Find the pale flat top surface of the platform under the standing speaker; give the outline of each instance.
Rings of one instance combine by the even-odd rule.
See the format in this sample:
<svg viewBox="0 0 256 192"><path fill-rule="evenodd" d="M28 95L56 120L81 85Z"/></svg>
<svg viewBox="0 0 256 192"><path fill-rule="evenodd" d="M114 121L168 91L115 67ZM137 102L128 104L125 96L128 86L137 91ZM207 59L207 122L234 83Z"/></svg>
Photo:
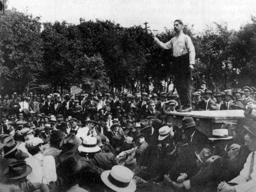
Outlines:
<svg viewBox="0 0 256 192"><path fill-rule="evenodd" d="M185 116L195 118L210 118L210 119L239 119L243 118L244 110L221 110L221 111L191 111L187 113L180 112L165 112L166 115Z"/></svg>

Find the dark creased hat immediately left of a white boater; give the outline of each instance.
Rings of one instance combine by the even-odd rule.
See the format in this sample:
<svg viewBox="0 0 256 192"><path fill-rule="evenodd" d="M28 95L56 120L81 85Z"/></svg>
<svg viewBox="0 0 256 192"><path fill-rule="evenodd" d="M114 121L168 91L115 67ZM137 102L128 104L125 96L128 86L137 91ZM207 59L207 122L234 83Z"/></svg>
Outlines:
<svg viewBox="0 0 256 192"><path fill-rule="evenodd" d="M82 140L75 136L74 133L68 134L60 141L60 149L63 152L75 151L82 144Z"/></svg>

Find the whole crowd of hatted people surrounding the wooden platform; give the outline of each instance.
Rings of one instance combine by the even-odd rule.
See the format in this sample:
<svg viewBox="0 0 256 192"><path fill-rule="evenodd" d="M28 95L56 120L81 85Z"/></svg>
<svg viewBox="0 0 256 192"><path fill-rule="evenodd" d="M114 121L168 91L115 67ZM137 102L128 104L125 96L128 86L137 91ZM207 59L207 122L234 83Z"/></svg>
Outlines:
<svg viewBox="0 0 256 192"><path fill-rule="evenodd" d="M168 122L175 92L2 96L0 191L252 192L255 91L192 93L193 110L245 110L210 137L193 117Z"/></svg>

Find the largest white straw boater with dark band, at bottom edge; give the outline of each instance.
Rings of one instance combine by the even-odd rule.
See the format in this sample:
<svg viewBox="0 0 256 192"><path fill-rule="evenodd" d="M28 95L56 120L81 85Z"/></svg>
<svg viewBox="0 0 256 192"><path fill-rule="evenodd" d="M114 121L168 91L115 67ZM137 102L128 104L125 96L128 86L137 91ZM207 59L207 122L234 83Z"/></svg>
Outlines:
<svg viewBox="0 0 256 192"><path fill-rule="evenodd" d="M133 176L134 173L122 165L115 165L111 170L104 171L100 175L105 185L117 192L134 192L136 184L132 180Z"/></svg>

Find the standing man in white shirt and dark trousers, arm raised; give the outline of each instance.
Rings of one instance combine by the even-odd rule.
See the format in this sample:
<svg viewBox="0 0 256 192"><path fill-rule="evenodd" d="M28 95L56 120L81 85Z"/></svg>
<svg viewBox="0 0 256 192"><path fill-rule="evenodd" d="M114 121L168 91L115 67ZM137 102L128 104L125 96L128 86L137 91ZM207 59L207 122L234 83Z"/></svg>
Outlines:
<svg viewBox="0 0 256 192"><path fill-rule="evenodd" d="M183 22L174 21L176 36L163 43L153 35L155 43L162 49L172 49L175 86L181 98L180 112L189 112L191 106L191 70L195 64L195 48L191 38L183 33Z"/></svg>

